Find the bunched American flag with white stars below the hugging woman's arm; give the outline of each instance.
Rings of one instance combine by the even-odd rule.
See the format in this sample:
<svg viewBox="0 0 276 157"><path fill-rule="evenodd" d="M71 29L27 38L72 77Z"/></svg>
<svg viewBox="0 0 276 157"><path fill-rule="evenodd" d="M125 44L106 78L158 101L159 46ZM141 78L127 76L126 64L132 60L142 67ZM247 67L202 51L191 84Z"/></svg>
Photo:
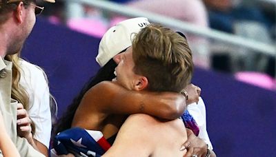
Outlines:
<svg viewBox="0 0 276 157"><path fill-rule="evenodd" d="M99 131L73 127L57 134L53 147L57 155L71 153L98 157L110 148L110 143Z"/></svg>

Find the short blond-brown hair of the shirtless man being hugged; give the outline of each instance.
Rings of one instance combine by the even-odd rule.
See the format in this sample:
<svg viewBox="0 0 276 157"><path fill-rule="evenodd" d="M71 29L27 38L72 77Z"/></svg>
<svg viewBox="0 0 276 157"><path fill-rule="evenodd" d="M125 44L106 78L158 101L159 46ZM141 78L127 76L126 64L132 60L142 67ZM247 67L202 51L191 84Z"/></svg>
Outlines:
<svg viewBox="0 0 276 157"><path fill-rule="evenodd" d="M132 41L134 72L147 77L151 91L180 92L193 75L187 40L161 25L150 24Z"/></svg>

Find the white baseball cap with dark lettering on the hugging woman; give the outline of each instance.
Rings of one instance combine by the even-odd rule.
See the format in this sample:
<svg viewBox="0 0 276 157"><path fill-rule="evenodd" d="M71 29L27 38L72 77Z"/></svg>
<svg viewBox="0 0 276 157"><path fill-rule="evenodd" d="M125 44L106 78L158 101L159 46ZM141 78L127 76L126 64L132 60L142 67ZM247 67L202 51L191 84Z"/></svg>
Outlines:
<svg viewBox="0 0 276 157"><path fill-rule="evenodd" d="M96 61L101 67L106 65L116 54L130 47L133 33L138 33L150 23L145 17L127 19L110 28L99 43Z"/></svg>

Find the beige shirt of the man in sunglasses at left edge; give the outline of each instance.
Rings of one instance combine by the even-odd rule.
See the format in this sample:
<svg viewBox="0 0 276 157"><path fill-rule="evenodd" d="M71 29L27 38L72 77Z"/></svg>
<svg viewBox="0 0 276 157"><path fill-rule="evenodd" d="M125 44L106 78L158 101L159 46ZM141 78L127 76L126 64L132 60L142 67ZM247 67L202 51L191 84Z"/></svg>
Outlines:
<svg viewBox="0 0 276 157"><path fill-rule="evenodd" d="M12 87L12 63L0 57L0 112L6 125L7 132L12 142L17 147L21 156L43 156L29 145L26 138L17 136L17 104L11 98ZM3 156L0 151L0 157Z"/></svg>

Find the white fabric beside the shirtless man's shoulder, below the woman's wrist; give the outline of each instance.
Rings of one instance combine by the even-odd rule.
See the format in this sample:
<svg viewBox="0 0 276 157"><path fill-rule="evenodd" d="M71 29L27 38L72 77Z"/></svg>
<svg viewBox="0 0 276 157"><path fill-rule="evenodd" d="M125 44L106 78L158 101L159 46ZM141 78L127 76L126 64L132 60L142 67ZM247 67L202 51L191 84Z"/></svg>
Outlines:
<svg viewBox="0 0 276 157"><path fill-rule="evenodd" d="M195 122L197 122L197 125L199 127L198 137L202 138L204 142L210 145L210 147L213 149L213 145L210 142L210 138L206 129L206 108L202 98L199 97L198 103L192 103L188 105L187 110L193 116Z"/></svg>

